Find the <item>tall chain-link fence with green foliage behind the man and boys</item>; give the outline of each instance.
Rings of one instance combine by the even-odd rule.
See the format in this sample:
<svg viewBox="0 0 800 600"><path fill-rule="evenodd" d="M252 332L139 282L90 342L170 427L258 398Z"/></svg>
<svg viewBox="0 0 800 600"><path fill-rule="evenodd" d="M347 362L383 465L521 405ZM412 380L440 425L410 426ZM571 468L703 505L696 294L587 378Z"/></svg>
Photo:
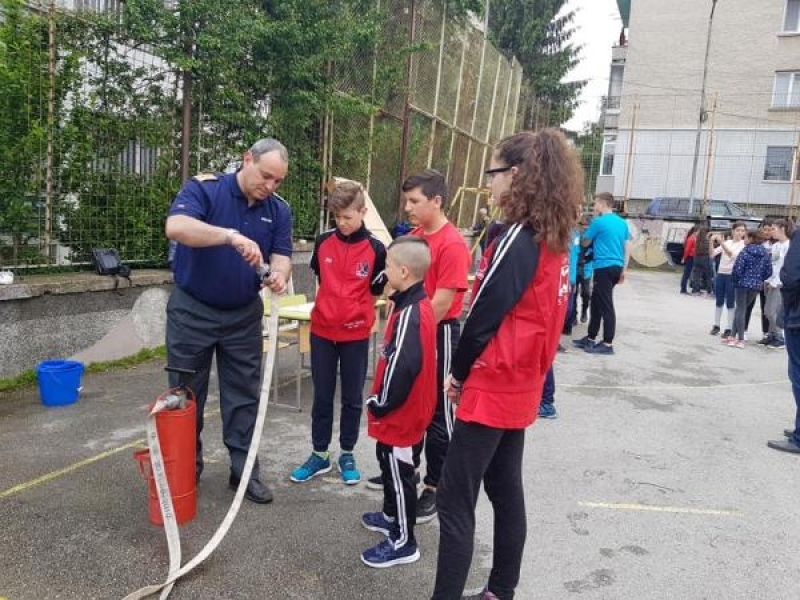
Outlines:
<svg viewBox="0 0 800 600"><path fill-rule="evenodd" d="M330 61L338 92L309 117L293 111L308 89L248 72L270 48L255 44L239 64L209 42L257 35L243 19L272 3L219 4L213 18L207 4L0 0L0 267L85 265L97 247L164 264L163 222L183 178L235 168L264 135L290 150L281 194L298 236L316 233L331 177L367 184L391 226L402 178L427 167L446 174L459 225L471 225L522 85L481 30L442 2L364 0L381 18L378 41Z"/></svg>

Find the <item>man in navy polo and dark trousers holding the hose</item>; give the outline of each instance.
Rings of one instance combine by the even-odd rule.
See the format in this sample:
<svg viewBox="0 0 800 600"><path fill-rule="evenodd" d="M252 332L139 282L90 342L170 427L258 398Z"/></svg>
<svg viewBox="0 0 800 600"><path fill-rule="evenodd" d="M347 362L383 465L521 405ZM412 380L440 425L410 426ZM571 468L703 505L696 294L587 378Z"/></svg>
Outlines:
<svg viewBox="0 0 800 600"><path fill-rule="evenodd" d="M177 242L175 287L167 303L169 364L197 371L188 381L197 398L196 475L203 471L200 433L211 360L217 359L222 437L235 489L253 436L261 389L262 316L256 268L268 263L265 282L286 290L292 263L292 216L275 191L286 177L289 156L274 139L244 154L241 168L189 180L172 203L167 237ZM173 374L173 385L177 383ZM272 501L256 461L246 497Z"/></svg>

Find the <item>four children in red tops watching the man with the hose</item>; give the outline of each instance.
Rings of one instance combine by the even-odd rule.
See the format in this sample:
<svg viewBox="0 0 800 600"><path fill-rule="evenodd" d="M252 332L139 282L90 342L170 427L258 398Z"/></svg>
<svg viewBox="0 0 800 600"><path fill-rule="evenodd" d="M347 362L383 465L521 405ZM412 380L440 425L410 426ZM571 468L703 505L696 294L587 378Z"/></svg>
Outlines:
<svg viewBox="0 0 800 600"><path fill-rule="evenodd" d="M550 164L561 166L542 177ZM437 171L404 182L405 210L415 228L388 250L363 223L361 187L339 184L329 198L336 228L318 236L311 259L319 282L311 313L312 453L290 478L306 482L332 468L338 369L342 481L361 480L353 449L363 405L381 472L370 480L370 487L383 489L381 510L364 513L361 521L385 539L361 560L378 568L416 561L415 524L438 513L437 600L463 593L481 481L495 508L496 530L504 533L495 540L489 583L474 598L513 597L525 541L524 432L536 418L561 330L556 323L567 310L566 251L582 197L580 164L557 130L501 141L487 175L508 229L486 249L463 335L459 317L471 259L447 220L447 186ZM362 405L375 296L387 283L392 310Z"/></svg>

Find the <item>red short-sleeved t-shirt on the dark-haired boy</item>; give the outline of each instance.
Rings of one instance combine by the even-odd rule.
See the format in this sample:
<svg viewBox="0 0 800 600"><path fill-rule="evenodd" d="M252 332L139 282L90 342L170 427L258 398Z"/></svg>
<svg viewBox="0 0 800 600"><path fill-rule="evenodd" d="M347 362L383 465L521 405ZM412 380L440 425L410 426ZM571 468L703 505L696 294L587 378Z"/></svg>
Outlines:
<svg viewBox="0 0 800 600"><path fill-rule="evenodd" d="M457 319L464 305L464 292L467 290L467 276L472 262L461 232L448 221L435 233L427 234L422 227L416 227L411 235L424 238L431 250L431 266L425 275L425 293L432 299L437 288L456 290L453 302L442 320Z"/></svg>

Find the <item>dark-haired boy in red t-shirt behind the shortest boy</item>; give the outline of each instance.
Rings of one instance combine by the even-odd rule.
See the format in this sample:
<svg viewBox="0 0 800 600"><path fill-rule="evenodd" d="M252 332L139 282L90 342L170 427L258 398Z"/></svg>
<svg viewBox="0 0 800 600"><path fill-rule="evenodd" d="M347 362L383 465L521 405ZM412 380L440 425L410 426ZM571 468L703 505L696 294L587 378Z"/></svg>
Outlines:
<svg viewBox="0 0 800 600"><path fill-rule="evenodd" d="M417 503L417 522L426 523L436 515L436 486L442 474L447 448L453 435L453 404L444 393L461 324L458 321L467 290L472 261L461 232L447 220L447 183L433 169L412 175L403 182L403 199L409 219L418 235L431 249L431 267L425 275L425 293L436 317L436 412L425 435L425 488ZM419 459L415 461L419 464Z"/></svg>

